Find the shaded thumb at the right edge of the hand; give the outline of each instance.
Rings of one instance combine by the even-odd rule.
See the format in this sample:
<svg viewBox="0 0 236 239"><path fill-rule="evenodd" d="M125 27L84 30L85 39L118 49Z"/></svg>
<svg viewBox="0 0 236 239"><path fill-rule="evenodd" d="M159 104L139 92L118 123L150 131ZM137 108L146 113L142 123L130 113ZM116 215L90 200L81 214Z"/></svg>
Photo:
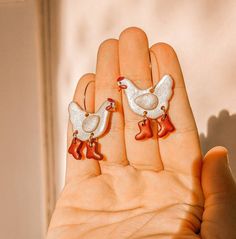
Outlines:
<svg viewBox="0 0 236 239"><path fill-rule="evenodd" d="M202 189L205 196L202 238L236 238L236 184L224 147L214 147L206 154Z"/></svg>

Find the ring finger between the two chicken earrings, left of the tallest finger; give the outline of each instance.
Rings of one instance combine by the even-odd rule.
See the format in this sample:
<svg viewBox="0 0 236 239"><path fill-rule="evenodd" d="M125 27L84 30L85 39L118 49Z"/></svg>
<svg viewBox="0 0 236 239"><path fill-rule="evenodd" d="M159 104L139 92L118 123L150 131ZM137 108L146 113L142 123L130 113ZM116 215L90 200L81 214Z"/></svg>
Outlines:
<svg viewBox="0 0 236 239"><path fill-rule="evenodd" d="M116 103L109 129L101 139L100 145L104 160L100 161L103 169L109 165L127 165L124 139L124 119L121 92L117 90L117 77L119 76L118 40L104 41L98 50L97 69L95 80L95 109L99 109L107 98Z"/></svg>

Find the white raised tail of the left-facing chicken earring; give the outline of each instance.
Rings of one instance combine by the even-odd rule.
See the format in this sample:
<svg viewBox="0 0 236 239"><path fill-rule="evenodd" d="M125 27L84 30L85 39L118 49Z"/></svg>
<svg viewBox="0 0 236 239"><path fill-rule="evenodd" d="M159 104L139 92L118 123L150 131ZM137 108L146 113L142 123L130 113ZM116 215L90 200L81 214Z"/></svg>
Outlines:
<svg viewBox="0 0 236 239"><path fill-rule="evenodd" d="M154 94L158 97L159 103L168 105L172 96L173 79L170 75L164 75L154 88Z"/></svg>

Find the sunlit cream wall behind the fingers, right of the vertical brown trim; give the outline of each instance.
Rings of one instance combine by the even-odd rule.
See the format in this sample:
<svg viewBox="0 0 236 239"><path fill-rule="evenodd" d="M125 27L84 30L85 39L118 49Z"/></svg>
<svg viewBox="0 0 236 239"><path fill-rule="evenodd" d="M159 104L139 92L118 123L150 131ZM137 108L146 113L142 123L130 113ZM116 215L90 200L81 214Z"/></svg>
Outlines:
<svg viewBox="0 0 236 239"><path fill-rule="evenodd" d="M56 4L57 191L64 180L67 106L76 83L84 73L95 71L99 44L117 38L129 26L142 28L150 45L163 41L176 49L199 132L204 134L203 150L216 144L230 147L236 173L236 1L60 0Z"/></svg>

